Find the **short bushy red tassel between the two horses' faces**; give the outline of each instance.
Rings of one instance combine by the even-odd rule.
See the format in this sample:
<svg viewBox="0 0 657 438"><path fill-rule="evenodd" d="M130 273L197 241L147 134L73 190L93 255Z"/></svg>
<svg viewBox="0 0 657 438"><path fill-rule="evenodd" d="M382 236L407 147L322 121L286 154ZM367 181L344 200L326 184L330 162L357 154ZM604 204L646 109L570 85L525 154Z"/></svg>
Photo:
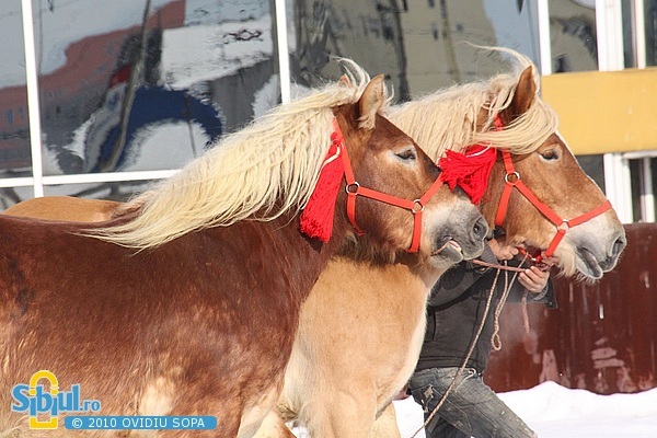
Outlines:
<svg viewBox="0 0 657 438"><path fill-rule="evenodd" d="M465 153L448 150L438 163L442 170L440 180L452 191L457 184L461 186L472 204L477 205L488 186L488 176L495 160L497 160L497 150L482 145L468 148Z"/></svg>

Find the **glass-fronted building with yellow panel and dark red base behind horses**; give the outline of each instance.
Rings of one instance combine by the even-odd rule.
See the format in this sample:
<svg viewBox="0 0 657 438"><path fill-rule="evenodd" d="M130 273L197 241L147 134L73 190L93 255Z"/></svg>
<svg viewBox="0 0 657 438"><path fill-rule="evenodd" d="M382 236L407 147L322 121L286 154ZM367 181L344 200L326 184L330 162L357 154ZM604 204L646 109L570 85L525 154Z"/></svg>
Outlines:
<svg viewBox="0 0 657 438"><path fill-rule="evenodd" d="M622 221L655 222L657 0L3 0L0 38L0 209L43 195L125 199L290 95L337 79L330 56L385 73L397 102L507 70L469 42L533 59L562 134ZM649 261L652 246L641 251L627 260ZM650 269L633 272L644 280L626 296L622 277L560 286L558 322L538 315L539 328L569 321L558 348L585 333L591 357L539 342L527 357L498 358L506 369L530 358L533 380L511 382L499 365L497 388L531 384L548 369L598 392L633 388L598 387L609 373L638 381L631 354L596 355L626 349L632 321L650 320L635 312L657 320ZM606 325L630 299L638 308ZM588 325L577 323L583 314ZM639 389L655 385L657 370L657 328L646 324L652 337L632 349L645 357ZM508 351L521 350L516 341ZM576 382L581 373L602 378Z"/></svg>

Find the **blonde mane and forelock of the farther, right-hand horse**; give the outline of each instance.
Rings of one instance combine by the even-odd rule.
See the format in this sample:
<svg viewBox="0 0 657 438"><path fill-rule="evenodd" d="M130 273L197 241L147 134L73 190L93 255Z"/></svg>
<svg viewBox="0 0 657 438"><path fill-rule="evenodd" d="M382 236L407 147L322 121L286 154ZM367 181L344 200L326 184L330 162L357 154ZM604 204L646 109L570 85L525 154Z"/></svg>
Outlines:
<svg viewBox="0 0 657 438"><path fill-rule="evenodd" d="M447 149L462 152L469 146L487 143L511 153L537 150L556 130L556 113L538 93L529 110L503 130L491 129L495 116L514 99L520 73L532 67L540 90L535 66L526 56L503 47L480 47L511 55L517 66L514 73L500 73L487 81L439 90L418 100L392 106L387 116L408 134L434 160ZM480 111L488 117L477 129Z"/></svg>

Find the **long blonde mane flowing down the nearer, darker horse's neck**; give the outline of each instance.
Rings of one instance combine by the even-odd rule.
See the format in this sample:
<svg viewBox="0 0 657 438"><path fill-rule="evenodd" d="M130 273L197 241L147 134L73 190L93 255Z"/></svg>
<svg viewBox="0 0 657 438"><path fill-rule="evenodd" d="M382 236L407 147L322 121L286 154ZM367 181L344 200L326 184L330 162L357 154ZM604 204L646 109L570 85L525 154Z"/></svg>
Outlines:
<svg viewBox="0 0 657 438"><path fill-rule="evenodd" d="M181 172L125 205L123 211L137 211L134 219L88 233L142 250L194 230L298 212L331 145L332 108L357 102L370 80L355 62L339 61L348 80L279 105L223 137Z"/></svg>

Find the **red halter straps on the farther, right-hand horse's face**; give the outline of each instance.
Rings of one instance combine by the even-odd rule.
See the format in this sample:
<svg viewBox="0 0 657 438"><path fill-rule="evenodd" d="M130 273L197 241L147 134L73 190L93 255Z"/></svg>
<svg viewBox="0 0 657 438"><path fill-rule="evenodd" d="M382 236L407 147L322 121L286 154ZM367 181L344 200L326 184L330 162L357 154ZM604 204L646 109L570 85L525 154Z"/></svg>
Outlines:
<svg viewBox="0 0 657 438"><path fill-rule="evenodd" d="M511 197L511 191L516 187L526 198L529 200L543 216L545 216L556 227L556 235L552 239L550 246L545 251L545 254L538 254L532 257L532 261L540 263L543 257L550 257L554 254L556 246L563 239L564 234L568 229L591 220L596 216L602 215L604 211L611 208L611 203L607 199L601 206L593 208L590 211L585 212L581 216L577 216L573 219L562 219L553 209L543 204L539 198L531 192L531 189L525 185L520 180L520 173L514 168L514 161L511 154L508 151L500 151L504 159L504 166L506 169L506 175L504 176L505 186L499 198L499 207L497 208L497 215L495 216L495 226L502 227L506 218L507 209L509 206L509 199Z"/></svg>

